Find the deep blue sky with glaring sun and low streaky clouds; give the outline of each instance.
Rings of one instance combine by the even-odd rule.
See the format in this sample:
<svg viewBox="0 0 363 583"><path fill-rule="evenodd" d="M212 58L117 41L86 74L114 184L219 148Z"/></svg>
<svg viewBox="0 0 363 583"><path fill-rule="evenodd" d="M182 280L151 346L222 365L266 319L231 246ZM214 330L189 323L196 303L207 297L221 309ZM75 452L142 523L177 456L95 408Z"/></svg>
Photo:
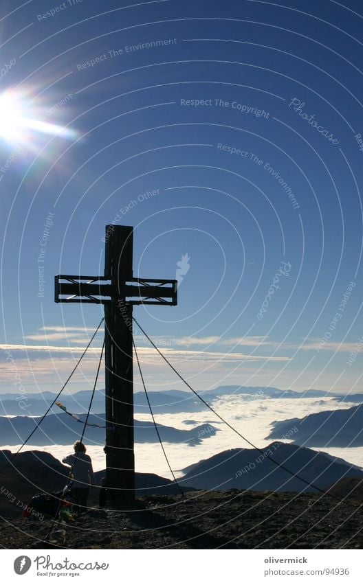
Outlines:
<svg viewBox="0 0 363 583"><path fill-rule="evenodd" d="M111 222L136 276L188 255L178 306L135 317L196 389L361 391L362 7L286 4L1 3L1 391L67 377L102 308L54 275L101 275Z"/></svg>

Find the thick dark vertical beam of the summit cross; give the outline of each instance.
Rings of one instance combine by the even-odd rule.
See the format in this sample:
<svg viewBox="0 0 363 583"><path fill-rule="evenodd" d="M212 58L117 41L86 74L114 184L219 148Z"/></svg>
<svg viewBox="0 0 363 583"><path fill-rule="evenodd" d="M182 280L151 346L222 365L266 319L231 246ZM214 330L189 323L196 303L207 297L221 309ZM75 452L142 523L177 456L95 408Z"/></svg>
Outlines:
<svg viewBox="0 0 363 583"><path fill-rule="evenodd" d="M110 503L135 496L133 440L132 305L123 288L133 277L133 228L106 227L104 276L111 302L104 306L106 380L106 485Z"/></svg>

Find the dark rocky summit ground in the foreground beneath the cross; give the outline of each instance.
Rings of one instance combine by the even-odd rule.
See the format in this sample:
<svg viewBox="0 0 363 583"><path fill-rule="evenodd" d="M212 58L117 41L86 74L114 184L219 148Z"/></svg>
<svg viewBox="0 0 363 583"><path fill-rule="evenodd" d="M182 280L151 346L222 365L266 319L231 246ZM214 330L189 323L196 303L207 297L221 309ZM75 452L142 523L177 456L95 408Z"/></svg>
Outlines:
<svg viewBox="0 0 363 583"><path fill-rule="evenodd" d="M51 518L3 518L0 535L8 549L362 549L360 503L296 492L197 491L145 496L120 511L95 507L55 527Z"/></svg>

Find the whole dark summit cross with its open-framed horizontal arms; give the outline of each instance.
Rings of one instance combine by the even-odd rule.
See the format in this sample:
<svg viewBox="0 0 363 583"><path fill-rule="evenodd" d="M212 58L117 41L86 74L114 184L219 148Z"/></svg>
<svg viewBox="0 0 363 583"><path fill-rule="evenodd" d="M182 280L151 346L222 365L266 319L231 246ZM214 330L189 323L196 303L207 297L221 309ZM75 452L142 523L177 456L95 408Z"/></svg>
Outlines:
<svg viewBox="0 0 363 583"><path fill-rule="evenodd" d="M104 304L106 487L108 499L135 497L133 306L177 305L175 279L133 277L133 227L106 226L104 275L56 275L55 301Z"/></svg>

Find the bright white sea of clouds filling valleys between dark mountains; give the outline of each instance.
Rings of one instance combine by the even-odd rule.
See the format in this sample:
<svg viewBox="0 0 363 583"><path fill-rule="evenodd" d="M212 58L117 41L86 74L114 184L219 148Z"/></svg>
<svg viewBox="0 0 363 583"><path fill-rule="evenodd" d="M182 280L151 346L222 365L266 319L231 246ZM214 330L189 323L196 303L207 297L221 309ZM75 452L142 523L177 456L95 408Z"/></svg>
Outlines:
<svg viewBox="0 0 363 583"><path fill-rule="evenodd" d="M218 401L214 401L214 409L225 418L234 428L245 435L257 447L267 446L272 439L266 439L271 431L271 424L274 421L283 421L291 418L303 418L311 413L319 411L333 411L337 409L348 409L354 404L351 402L337 402L333 398L295 398L295 399L270 399L251 398L248 396L223 396ZM135 415L135 418L142 421L151 420L150 415ZM190 464L194 464L201 459L206 459L221 451L232 448L250 448L241 437L236 435L228 426L225 426L210 410L203 413L177 413L156 415L156 420L162 425L173 426L179 429L190 429L194 424L210 423L215 428L220 429L216 435L203 439L200 445L190 446L185 444L165 443L166 453L170 465L175 470L175 475L181 477L181 470ZM186 423L187 422L187 423ZM75 422L76 423L76 422ZM293 438L294 436L292 436ZM290 442L291 439L279 440ZM2 446L2 449L16 451L19 446ZM99 446L87 446L87 453L91 455L94 470L104 469L104 444ZM72 453L72 446L25 446L26 450L41 450L52 453L57 459L62 459L65 455ZM363 468L363 448L316 448L325 451L330 455L348 461L350 464ZM137 472L155 473L172 479L170 470L159 444L135 444L135 470Z"/></svg>

